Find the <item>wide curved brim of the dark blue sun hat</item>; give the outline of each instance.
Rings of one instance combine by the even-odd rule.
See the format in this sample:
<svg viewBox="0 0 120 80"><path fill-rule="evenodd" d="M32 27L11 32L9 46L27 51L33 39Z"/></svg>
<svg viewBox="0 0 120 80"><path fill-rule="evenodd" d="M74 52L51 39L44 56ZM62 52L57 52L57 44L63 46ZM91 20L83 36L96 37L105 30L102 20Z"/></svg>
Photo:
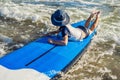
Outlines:
<svg viewBox="0 0 120 80"><path fill-rule="evenodd" d="M67 15L67 13L65 13L65 20L58 22L58 21L55 20L54 14L52 14L51 22L55 26L65 26L70 22L70 17Z"/></svg>

